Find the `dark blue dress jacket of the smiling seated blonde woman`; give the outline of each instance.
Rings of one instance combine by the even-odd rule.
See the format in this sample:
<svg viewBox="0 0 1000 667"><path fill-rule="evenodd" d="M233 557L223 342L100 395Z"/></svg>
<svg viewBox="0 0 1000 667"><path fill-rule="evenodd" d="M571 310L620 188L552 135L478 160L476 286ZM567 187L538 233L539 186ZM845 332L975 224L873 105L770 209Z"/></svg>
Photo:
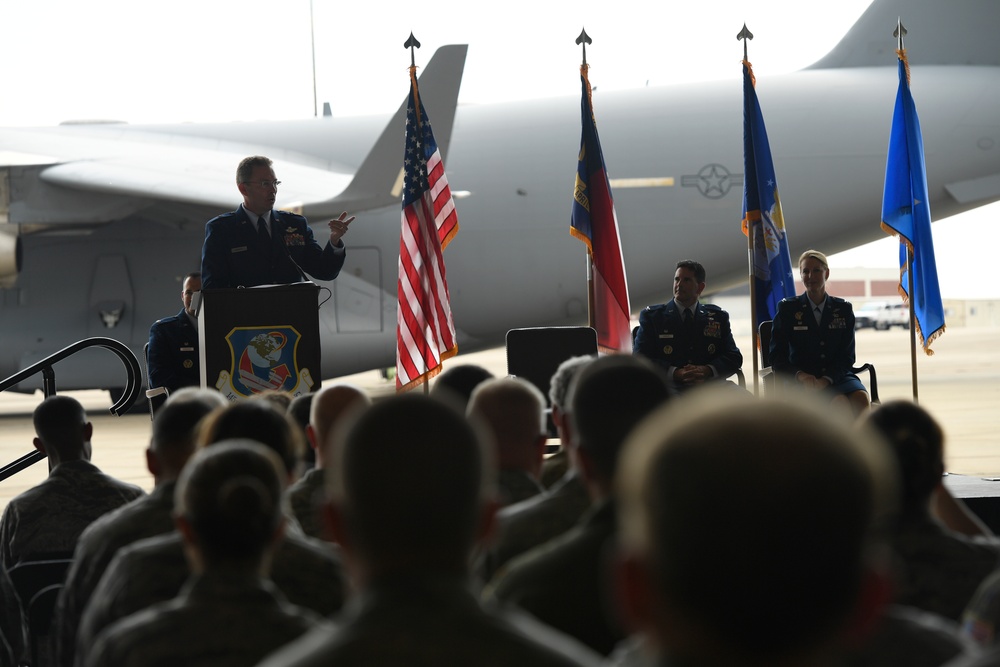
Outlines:
<svg viewBox="0 0 1000 667"><path fill-rule="evenodd" d="M827 296L819 324L806 294L783 299L771 328L771 367L794 376L799 371L830 378L840 394L864 391L854 366L854 309L850 302Z"/></svg>

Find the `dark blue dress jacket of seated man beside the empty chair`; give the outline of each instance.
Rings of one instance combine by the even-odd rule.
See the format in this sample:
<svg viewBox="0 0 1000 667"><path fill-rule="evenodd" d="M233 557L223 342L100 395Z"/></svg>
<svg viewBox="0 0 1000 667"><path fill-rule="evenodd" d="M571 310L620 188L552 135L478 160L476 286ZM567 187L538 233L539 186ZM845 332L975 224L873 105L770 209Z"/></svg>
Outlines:
<svg viewBox="0 0 1000 667"><path fill-rule="evenodd" d="M646 306L639 313L633 354L651 359L667 372L688 364L711 366L718 380L728 378L743 366L743 354L733 340L729 313L715 304L700 301L695 306L693 323L687 327L676 301Z"/></svg>

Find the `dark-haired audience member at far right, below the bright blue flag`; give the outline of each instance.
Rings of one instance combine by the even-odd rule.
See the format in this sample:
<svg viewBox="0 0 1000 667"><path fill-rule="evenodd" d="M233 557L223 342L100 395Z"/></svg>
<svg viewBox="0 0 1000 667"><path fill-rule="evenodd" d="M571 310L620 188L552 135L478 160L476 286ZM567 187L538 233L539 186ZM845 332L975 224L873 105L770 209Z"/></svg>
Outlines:
<svg viewBox="0 0 1000 667"><path fill-rule="evenodd" d="M890 401L867 422L891 445L900 474L900 517L892 539L899 556L895 601L957 621L997 567L1000 540L968 521L971 513L956 511L964 506L944 486L944 433L926 410Z"/></svg>

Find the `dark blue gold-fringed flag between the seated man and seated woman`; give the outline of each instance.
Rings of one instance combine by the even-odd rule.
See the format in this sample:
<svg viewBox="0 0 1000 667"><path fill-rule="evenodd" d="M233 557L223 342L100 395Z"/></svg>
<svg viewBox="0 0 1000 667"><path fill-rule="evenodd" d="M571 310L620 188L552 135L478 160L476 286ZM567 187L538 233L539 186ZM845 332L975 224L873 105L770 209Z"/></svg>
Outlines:
<svg viewBox="0 0 1000 667"><path fill-rule="evenodd" d="M792 258L781 214L778 182L771 162L764 117L754 90L750 63L743 61L743 233L753 236L754 331L774 319L778 303L795 296Z"/></svg>

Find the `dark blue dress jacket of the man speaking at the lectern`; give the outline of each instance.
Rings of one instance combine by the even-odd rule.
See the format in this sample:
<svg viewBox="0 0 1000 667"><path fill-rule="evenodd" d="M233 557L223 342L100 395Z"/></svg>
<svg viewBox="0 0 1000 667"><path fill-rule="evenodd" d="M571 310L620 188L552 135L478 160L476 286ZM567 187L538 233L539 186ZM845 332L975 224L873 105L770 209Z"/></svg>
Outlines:
<svg viewBox="0 0 1000 667"><path fill-rule="evenodd" d="M333 280L344 266L343 241L320 247L301 215L271 211L270 229L270 241L263 244L243 206L209 220L201 254L202 288L296 283L304 279L299 268L318 280Z"/></svg>

